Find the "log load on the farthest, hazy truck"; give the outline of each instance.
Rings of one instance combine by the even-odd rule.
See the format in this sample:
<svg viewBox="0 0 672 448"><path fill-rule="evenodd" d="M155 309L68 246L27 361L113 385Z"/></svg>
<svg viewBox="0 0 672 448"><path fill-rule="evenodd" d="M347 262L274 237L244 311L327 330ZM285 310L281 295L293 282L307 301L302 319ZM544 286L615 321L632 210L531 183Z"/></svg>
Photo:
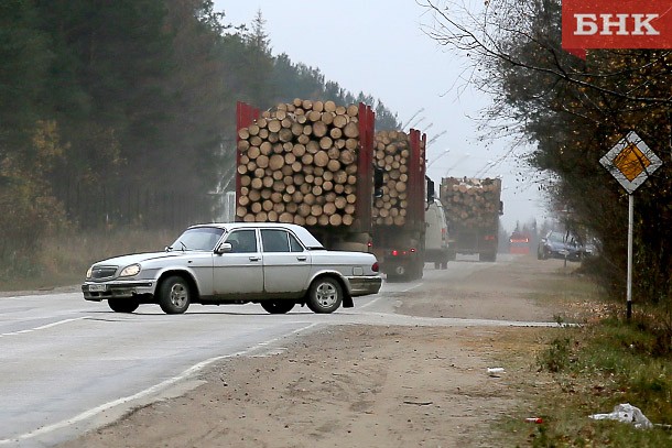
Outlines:
<svg viewBox="0 0 672 448"><path fill-rule="evenodd" d="M447 219L464 227L489 227L499 214L501 179L444 177L441 203Z"/></svg>

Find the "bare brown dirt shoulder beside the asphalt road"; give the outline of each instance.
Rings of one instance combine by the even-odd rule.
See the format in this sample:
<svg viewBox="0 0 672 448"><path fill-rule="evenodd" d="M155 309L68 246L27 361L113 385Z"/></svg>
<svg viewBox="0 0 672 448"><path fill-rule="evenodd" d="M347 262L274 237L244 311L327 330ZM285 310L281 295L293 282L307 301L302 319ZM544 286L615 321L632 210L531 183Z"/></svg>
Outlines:
<svg viewBox="0 0 672 448"><path fill-rule="evenodd" d="M535 297L562 270L532 256L497 263L400 295L397 313L553 321L566 307ZM531 374L541 331L329 327L283 341L275 353L214 365L185 395L59 447L498 447L490 425L524 409L517 378ZM505 371L488 373L494 367Z"/></svg>

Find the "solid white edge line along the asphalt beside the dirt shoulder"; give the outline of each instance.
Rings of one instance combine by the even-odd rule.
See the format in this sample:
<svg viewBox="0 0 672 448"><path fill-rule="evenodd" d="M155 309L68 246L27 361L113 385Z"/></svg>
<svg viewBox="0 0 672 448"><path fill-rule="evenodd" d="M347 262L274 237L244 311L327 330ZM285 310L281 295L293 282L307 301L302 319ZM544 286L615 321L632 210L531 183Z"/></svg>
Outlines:
<svg viewBox="0 0 672 448"><path fill-rule="evenodd" d="M71 320L74 320L74 319L71 319ZM268 341L260 342L260 343L258 343L256 346L252 346L252 347L250 347L250 348L248 348L246 350L238 351L236 353L224 354L224 356L220 356L220 357L214 357L214 358L206 359L205 361L202 361L202 362L199 362L199 363L197 363L195 365L192 365L191 368L186 369L185 371L183 371L178 375L170 378L170 379L167 379L167 380L165 380L165 381L163 381L163 382L161 382L159 384L154 384L153 386L148 387L144 391L140 391L140 392L138 392L138 393L136 393L133 395L123 396L121 398L117 398L117 400L113 400L113 401L108 402L108 403L104 403L100 406L96 406L96 407L94 407L91 409L85 411L82 414L74 416L73 418L68 418L68 419L65 419L65 420L62 420L62 422L57 422L57 423L54 423L52 425L43 426L43 427L41 427L39 429L32 430L30 433L22 434L20 436L14 437L14 438L11 438L11 439L0 439L0 445L15 444L17 441L26 440L26 439L30 439L30 438L33 438L33 437L42 436L42 435L48 434L48 433L51 433L53 430L56 430L56 429L63 429L65 427L74 425L74 424L76 424L78 422L83 422L83 420L86 420L87 418L91 418L91 417L96 416L97 414L100 414L101 412L110 409L110 408L112 408L115 406L118 406L118 405L121 405L121 404L124 404L124 403L129 403L129 402L132 402L134 400L144 398L144 397L147 397L149 395L152 395L154 393L158 393L158 392L169 387L170 385L173 385L173 384L177 383L178 381L182 381L182 380L186 379L189 375L193 375L194 373L198 372L199 370L202 370L206 365L212 364L213 362L220 361L223 359L235 358L235 357L238 357L238 356L248 354L248 353L253 352L256 350L268 348L268 346L270 346L270 345L272 345L272 343L274 343L274 342L277 342L277 341L279 341L281 339L284 339L288 336L296 335L296 334L300 334L302 331L306 331L306 330L308 330L308 329L311 329L311 328L313 328L313 327L315 327L317 325L319 325L319 324L310 324L310 325L307 325L307 326L305 326L303 328L299 328L296 330L290 331L286 335L279 336L279 337L270 339ZM268 348L268 350L270 351L270 350L272 350L272 348Z"/></svg>

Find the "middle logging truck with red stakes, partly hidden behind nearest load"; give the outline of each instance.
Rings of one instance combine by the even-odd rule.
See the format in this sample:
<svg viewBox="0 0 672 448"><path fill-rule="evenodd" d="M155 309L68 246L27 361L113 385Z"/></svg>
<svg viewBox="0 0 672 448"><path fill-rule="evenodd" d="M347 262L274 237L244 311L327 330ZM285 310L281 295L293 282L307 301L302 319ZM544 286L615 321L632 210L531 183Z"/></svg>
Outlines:
<svg viewBox="0 0 672 448"><path fill-rule="evenodd" d="M418 130L376 133L373 164L381 179L373 199L373 253L388 280L421 278L425 261L425 146ZM431 187L432 199L434 187Z"/></svg>

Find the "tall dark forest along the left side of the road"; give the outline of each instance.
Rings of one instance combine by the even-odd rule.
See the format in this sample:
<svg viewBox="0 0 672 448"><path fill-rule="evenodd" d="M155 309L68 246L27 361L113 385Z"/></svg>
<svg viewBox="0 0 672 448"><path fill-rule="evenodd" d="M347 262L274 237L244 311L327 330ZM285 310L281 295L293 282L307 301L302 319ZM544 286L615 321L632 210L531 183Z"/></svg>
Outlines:
<svg viewBox="0 0 672 448"><path fill-rule="evenodd" d="M209 0L0 3L0 260L64 228L181 227L232 187L236 101L364 101ZM166 210L166 204L170 209ZM7 269L7 267L6 267Z"/></svg>

